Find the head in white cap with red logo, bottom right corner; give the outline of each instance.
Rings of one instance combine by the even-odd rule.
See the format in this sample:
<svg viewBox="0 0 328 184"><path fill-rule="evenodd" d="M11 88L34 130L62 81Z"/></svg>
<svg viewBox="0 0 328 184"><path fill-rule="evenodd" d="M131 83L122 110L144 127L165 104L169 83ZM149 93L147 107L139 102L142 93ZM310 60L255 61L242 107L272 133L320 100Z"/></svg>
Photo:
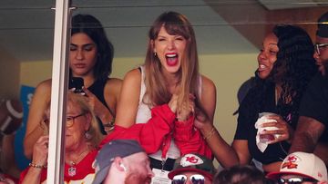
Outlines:
<svg viewBox="0 0 328 184"><path fill-rule="evenodd" d="M283 160L279 172L270 172L267 178L278 184L323 184L327 183L327 169L313 153L294 152Z"/></svg>

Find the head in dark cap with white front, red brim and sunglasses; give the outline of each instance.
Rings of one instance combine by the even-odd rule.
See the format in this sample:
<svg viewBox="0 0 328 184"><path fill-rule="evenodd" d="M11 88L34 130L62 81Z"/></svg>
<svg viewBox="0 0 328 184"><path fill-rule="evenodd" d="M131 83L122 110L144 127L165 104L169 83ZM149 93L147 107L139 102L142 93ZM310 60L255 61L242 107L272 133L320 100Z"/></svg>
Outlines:
<svg viewBox="0 0 328 184"><path fill-rule="evenodd" d="M169 179L172 184L210 184L215 172L212 160L190 153L175 161Z"/></svg>

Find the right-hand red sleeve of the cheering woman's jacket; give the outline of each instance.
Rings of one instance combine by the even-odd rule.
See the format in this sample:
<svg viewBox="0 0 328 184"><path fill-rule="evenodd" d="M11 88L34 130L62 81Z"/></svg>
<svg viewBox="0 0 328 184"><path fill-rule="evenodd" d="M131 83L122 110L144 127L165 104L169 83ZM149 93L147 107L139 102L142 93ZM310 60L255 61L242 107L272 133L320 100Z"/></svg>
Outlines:
<svg viewBox="0 0 328 184"><path fill-rule="evenodd" d="M194 127L194 116L191 116L187 121L176 121L173 138L174 142L178 146L181 156L197 152L200 155L204 155L209 159L212 159L212 153L203 139L200 130Z"/></svg>

